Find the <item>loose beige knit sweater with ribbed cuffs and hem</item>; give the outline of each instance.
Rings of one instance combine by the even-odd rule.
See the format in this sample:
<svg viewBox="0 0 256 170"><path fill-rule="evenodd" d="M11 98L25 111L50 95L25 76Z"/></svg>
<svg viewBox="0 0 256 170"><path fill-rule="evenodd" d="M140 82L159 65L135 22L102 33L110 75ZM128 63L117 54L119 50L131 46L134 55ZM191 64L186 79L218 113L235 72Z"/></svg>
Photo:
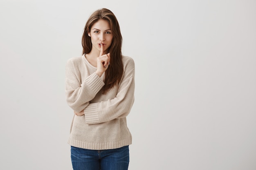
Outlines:
<svg viewBox="0 0 256 170"><path fill-rule="evenodd" d="M118 86L102 94L104 73L99 77L85 55L73 57L66 64L67 104L83 116L74 115L68 144L78 148L104 150L132 143L126 124L134 102L135 66L131 57L123 56L124 74ZM111 63L110 63L111 64Z"/></svg>

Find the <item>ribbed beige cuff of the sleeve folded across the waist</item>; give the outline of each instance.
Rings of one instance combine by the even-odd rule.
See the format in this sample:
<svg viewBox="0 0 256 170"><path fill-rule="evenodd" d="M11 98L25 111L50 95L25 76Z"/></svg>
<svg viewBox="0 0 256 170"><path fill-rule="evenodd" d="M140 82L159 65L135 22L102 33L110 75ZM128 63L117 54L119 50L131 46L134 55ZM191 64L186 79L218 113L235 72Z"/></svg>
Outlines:
<svg viewBox="0 0 256 170"><path fill-rule="evenodd" d="M90 103L84 110L85 123L97 124L99 123L98 105L97 103Z"/></svg>

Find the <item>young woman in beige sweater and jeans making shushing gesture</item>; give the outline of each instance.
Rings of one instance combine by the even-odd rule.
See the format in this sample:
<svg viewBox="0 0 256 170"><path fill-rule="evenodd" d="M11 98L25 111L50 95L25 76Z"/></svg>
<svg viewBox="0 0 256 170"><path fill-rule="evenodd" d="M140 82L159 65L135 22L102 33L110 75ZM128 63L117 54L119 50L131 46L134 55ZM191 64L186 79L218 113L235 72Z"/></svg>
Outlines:
<svg viewBox="0 0 256 170"><path fill-rule="evenodd" d="M132 136L126 124L134 102L135 66L121 53L122 36L108 9L92 13L83 55L66 64L66 99L74 110L68 144L74 170L127 170Z"/></svg>

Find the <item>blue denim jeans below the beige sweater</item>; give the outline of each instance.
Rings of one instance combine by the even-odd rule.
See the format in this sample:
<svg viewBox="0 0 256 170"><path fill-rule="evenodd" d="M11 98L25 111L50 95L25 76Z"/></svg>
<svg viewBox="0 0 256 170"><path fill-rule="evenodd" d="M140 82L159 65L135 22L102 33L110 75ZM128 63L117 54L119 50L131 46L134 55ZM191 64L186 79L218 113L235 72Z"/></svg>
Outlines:
<svg viewBox="0 0 256 170"><path fill-rule="evenodd" d="M129 146L89 150L71 146L73 170L128 170Z"/></svg>

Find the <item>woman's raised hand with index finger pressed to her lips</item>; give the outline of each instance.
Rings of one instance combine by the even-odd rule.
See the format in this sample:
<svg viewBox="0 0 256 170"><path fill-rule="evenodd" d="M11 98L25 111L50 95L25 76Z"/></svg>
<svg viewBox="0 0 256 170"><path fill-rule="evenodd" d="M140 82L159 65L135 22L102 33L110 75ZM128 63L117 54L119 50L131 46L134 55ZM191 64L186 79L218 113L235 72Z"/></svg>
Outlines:
<svg viewBox="0 0 256 170"><path fill-rule="evenodd" d="M110 53L103 55L103 45L101 44L101 52L99 57L97 57L97 70L96 74L101 77L101 75L108 69L110 64Z"/></svg>

